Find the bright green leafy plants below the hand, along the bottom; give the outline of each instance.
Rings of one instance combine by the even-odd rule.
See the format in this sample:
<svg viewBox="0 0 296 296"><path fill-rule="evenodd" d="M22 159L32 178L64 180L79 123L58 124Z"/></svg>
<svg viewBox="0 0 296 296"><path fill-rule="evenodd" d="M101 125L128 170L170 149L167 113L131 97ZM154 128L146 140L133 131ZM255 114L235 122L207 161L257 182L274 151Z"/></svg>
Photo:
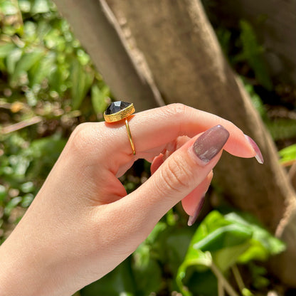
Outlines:
<svg viewBox="0 0 296 296"><path fill-rule="evenodd" d="M80 294L169 295L175 290L184 296L213 296L218 295L218 285L222 285L227 292L232 291L229 295L238 295L236 290L252 295L241 285L236 264L248 264L253 287L268 285L265 269L254 265L253 260L267 260L285 246L254 218L236 212L223 215L211 211L194 233L193 228L177 221L174 215L170 211L124 263ZM238 277L238 289L226 279L230 270Z"/></svg>

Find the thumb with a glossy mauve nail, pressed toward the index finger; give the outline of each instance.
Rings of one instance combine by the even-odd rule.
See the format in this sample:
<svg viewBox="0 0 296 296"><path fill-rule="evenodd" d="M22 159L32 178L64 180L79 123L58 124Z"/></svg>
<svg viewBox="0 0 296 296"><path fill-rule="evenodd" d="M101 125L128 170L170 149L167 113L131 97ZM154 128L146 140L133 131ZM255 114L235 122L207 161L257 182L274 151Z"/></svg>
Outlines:
<svg viewBox="0 0 296 296"><path fill-rule="evenodd" d="M151 230L171 207L199 186L221 157L228 137L229 132L217 125L190 139L128 199L122 199L138 227L143 223L144 228L148 226Z"/></svg>

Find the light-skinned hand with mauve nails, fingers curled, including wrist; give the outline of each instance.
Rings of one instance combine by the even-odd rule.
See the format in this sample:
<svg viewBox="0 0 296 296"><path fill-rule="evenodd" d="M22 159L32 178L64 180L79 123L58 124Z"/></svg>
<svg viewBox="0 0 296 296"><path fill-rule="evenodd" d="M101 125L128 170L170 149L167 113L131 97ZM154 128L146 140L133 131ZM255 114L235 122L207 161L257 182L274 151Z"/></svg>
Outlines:
<svg viewBox="0 0 296 296"><path fill-rule="evenodd" d="M124 122L75 129L1 245L0 295L72 295L127 258L179 201L193 223L223 147L262 159L231 122L185 105L139 112L129 127L135 156ZM117 178L139 158L153 174L127 195Z"/></svg>

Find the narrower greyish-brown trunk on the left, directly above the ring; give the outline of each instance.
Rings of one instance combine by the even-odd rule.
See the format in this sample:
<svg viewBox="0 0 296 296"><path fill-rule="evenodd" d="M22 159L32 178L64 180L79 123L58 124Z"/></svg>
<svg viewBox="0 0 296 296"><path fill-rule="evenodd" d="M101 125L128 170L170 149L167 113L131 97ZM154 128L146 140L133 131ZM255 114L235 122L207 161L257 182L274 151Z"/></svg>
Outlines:
<svg viewBox="0 0 296 296"><path fill-rule="evenodd" d="M129 55L120 26L105 1L55 2L118 100L132 100L137 111L164 105L153 81Z"/></svg>

